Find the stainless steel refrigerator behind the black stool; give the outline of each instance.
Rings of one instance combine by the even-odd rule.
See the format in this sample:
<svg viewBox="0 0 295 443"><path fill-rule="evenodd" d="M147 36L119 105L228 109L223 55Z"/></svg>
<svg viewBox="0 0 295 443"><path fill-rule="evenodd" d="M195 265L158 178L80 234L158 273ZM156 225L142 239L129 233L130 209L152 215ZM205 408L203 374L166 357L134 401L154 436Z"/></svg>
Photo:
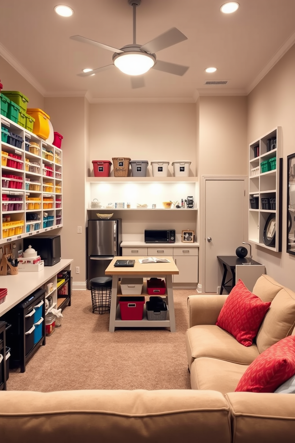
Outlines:
<svg viewBox="0 0 295 443"><path fill-rule="evenodd" d="M88 289L90 280L105 277L104 271L115 256L122 255L122 219L88 220Z"/></svg>

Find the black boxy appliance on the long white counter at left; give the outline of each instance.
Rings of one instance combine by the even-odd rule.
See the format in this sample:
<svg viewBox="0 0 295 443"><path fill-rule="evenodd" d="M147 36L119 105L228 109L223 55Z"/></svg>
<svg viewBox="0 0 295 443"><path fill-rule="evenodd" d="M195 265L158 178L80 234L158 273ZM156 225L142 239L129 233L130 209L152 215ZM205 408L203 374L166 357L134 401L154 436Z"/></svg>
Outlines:
<svg viewBox="0 0 295 443"><path fill-rule="evenodd" d="M25 237L23 239L23 250L26 250L29 245L37 251L41 260L44 260L44 266L53 266L61 261L60 235Z"/></svg>

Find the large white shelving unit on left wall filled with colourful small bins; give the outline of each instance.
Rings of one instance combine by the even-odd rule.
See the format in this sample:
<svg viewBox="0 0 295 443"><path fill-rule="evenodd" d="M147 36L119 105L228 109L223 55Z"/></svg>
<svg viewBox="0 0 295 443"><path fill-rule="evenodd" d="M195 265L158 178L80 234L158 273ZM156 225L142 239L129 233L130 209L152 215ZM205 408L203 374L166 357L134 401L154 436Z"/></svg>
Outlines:
<svg viewBox="0 0 295 443"><path fill-rule="evenodd" d="M1 115L0 119L1 126L8 128L9 132L21 136L24 140L21 147L16 148L0 139L2 153L6 152L20 157L17 160L17 165L20 167L5 166L5 160L1 161L0 243L6 243L62 226L62 151L7 117ZM39 150L36 149L35 153L28 152L26 149L31 142L39 145ZM6 154L2 159L5 158L11 159ZM26 159L28 162L26 162ZM28 167L27 164L26 167L26 163L29 163L30 166ZM46 171L52 171L53 176L46 175ZM4 175L21 177L21 187L19 189L8 187ZM35 184L32 182L35 182ZM10 207L7 208L5 205L8 201L3 200L5 194L21 196L21 200L14 202L19 203L21 209L11 210ZM36 198L37 200L35 202L34 200L26 200L26 197ZM37 214L38 219L29 220L30 213ZM19 226L15 223L17 228L13 230L14 225L5 225L6 221L3 221L5 216L10 216L11 222L19 221Z"/></svg>

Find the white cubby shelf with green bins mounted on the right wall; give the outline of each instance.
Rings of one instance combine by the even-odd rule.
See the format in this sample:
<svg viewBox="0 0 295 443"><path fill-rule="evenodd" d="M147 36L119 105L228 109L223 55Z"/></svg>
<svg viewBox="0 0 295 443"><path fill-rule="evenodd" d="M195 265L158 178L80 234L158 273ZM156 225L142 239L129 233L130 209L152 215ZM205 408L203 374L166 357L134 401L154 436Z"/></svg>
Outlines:
<svg viewBox="0 0 295 443"><path fill-rule="evenodd" d="M282 250L281 127L249 144L249 241Z"/></svg>

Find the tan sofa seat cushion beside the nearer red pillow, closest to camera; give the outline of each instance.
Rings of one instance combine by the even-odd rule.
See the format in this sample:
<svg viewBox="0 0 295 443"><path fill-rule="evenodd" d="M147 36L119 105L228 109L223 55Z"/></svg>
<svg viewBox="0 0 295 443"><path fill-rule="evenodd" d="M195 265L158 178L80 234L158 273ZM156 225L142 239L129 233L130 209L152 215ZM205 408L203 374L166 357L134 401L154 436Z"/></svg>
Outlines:
<svg viewBox="0 0 295 443"><path fill-rule="evenodd" d="M191 366L191 388L234 392L249 365L239 365L217 358L196 358Z"/></svg>

